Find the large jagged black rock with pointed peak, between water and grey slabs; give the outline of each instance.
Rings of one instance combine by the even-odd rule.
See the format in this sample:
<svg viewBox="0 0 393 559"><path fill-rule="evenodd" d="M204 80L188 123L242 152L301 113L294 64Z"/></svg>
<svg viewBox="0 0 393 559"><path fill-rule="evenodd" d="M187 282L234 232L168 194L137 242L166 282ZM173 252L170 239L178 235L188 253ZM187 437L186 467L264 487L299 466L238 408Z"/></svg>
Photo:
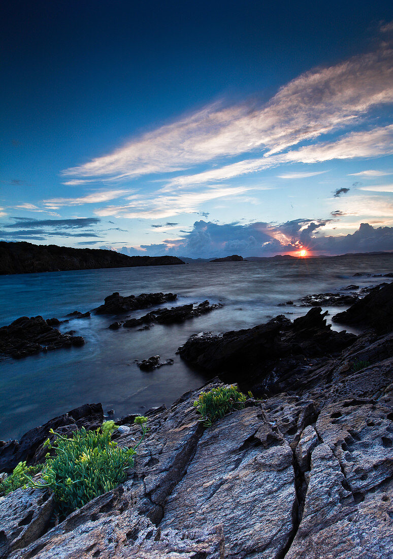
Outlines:
<svg viewBox="0 0 393 559"><path fill-rule="evenodd" d="M320 307L293 322L280 315L267 324L224 334L203 333L179 348L180 357L225 382L239 381L246 392L284 390L303 375L310 360L326 359L351 345L356 337L326 324ZM239 378L238 372L247 375Z"/></svg>

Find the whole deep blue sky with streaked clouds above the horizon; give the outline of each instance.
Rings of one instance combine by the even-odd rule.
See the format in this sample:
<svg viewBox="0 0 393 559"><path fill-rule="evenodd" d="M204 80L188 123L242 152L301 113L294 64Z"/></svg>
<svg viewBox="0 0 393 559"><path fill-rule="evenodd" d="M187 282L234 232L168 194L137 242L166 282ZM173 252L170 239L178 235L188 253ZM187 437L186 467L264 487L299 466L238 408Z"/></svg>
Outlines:
<svg viewBox="0 0 393 559"><path fill-rule="evenodd" d="M0 239L393 251L393 4L13 0Z"/></svg>

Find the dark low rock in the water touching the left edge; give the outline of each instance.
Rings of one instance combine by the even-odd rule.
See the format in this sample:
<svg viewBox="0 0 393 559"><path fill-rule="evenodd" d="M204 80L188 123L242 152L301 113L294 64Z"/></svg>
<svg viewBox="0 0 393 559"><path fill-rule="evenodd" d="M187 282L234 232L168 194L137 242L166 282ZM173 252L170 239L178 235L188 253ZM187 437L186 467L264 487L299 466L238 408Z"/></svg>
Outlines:
<svg viewBox="0 0 393 559"><path fill-rule="evenodd" d="M40 351L84 344L82 336L61 334L51 324L60 322L57 319L44 320L42 316L21 316L12 324L3 326L0 328L0 353L19 358Z"/></svg>

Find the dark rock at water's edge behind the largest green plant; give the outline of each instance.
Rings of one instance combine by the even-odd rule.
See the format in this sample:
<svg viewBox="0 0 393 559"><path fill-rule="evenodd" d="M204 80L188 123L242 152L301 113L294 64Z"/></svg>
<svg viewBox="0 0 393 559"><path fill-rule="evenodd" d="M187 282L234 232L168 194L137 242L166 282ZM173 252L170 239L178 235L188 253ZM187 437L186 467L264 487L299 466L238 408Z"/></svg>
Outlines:
<svg viewBox="0 0 393 559"><path fill-rule="evenodd" d="M26 461L28 465L44 462L46 449L42 448L45 440L53 438L49 430L60 432L64 437L75 429L97 429L102 425L104 413L101 404L84 404L64 415L51 419L40 427L35 427L17 440L0 441L0 471L12 472L18 462Z"/></svg>

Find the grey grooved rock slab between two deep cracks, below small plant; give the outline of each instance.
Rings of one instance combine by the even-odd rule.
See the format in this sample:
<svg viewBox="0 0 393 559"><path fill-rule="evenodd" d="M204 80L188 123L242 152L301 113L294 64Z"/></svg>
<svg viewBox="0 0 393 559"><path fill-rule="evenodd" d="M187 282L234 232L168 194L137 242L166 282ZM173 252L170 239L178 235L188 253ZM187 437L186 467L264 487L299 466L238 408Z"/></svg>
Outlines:
<svg viewBox="0 0 393 559"><path fill-rule="evenodd" d="M258 408L238 410L207 429L165 505L162 529L222 524L226 557L282 553L297 508L293 453Z"/></svg>

